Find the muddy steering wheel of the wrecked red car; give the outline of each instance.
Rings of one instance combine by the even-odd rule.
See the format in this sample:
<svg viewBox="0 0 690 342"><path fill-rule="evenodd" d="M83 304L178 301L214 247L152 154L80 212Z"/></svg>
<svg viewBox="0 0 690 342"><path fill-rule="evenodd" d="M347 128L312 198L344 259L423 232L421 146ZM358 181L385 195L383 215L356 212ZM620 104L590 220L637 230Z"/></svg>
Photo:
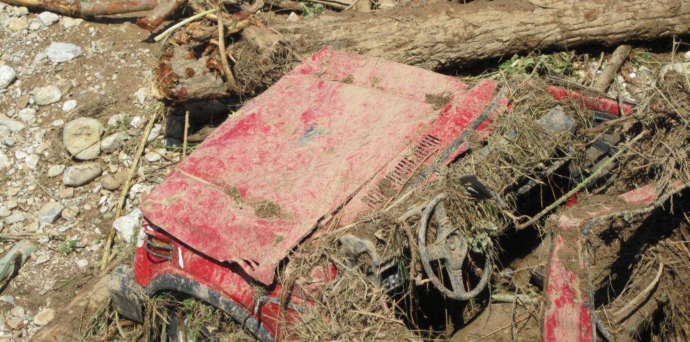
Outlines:
<svg viewBox="0 0 690 342"><path fill-rule="evenodd" d="M445 213L445 207L442 201L445 199L445 194L438 194L434 199L429 201L429 204L422 212L420 219L420 229L418 231L418 242L420 248L420 259L424 271L427 272L427 277L434 286L440 290L446 297L454 300L470 300L477 297L486 285L489 283L491 277L491 261L489 258L484 263L484 274L482 279L473 290L465 290L462 282L462 264L467 256L467 240L458 231L453 228ZM439 205L440 204L440 205ZM436 241L427 245L427 228L431 215L436 216L436 225L438 232L436 233ZM443 285L443 282L438 279L434 270L431 268L431 261L438 261L443 263L445 270L450 277L450 284L452 289Z"/></svg>

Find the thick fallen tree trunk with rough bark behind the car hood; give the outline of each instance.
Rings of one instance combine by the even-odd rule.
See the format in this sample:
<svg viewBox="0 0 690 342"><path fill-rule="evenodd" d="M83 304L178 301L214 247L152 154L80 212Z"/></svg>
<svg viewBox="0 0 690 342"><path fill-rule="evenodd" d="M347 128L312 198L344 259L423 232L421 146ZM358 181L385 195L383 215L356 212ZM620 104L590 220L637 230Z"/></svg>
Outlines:
<svg viewBox="0 0 690 342"><path fill-rule="evenodd" d="M690 31L690 0L443 2L378 13L324 13L267 26L245 29L229 47L240 95L259 93L322 47L439 70L532 49L671 37ZM184 54L178 48L162 57L156 82L164 97L227 95L222 72L208 72L213 63L194 63Z"/></svg>

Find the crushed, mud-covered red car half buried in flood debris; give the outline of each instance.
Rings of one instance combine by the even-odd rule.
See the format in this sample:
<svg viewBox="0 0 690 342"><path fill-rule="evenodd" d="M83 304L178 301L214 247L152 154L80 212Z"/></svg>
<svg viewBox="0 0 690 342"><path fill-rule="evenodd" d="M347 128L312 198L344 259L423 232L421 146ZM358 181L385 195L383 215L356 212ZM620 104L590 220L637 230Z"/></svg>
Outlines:
<svg viewBox="0 0 690 342"><path fill-rule="evenodd" d="M555 100L580 96L549 91ZM469 86L408 65L321 50L218 127L141 202L145 237L134 264L119 267L109 282L116 309L141 322L141 296L176 291L226 311L260 341L274 341L281 329L277 267L289 251L316 231L353 224L403 188L429 182L468 150L469 132L486 136L492 118L509 115L508 98L509 86L489 79ZM608 99L584 102L610 118L631 109ZM544 125L569 129L551 119ZM392 191L379 186L382 181ZM491 195L481 180L469 176L467 182ZM429 275L428 262L443 260L452 286L431 277L434 285L466 300L484 290L491 263L475 288L463 288L461 275L452 274L462 267L466 245L448 229L445 247L424 249L422 264ZM366 249L366 240L350 242ZM386 262L376 260L376 272L367 276L394 291L401 277L383 267ZM336 274L335 267L314 270L321 281ZM256 282L273 285L272 292L255 297ZM309 306L298 291L287 302L293 313ZM545 329L592 324L551 316Z"/></svg>

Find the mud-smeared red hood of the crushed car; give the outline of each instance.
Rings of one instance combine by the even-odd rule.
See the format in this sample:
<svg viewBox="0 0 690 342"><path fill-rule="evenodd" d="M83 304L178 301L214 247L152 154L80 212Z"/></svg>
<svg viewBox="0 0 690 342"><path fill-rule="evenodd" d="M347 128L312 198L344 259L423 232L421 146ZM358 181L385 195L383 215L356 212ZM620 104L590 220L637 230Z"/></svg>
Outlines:
<svg viewBox="0 0 690 342"><path fill-rule="evenodd" d="M428 95L457 102L466 88L428 70L323 49L218 127L141 211L201 254L271 283L277 263L320 219L440 117Z"/></svg>

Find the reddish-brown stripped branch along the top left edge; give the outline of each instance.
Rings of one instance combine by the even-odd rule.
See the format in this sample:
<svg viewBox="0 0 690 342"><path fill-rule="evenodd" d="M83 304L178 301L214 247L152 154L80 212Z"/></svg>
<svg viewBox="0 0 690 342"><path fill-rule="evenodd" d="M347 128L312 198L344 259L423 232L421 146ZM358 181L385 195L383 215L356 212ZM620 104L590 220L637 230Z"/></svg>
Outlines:
<svg viewBox="0 0 690 342"><path fill-rule="evenodd" d="M3 0L12 6L26 6L33 10L69 15L70 17L93 17L95 15L115 15L151 10L158 0L124 1L70 1L70 0Z"/></svg>

